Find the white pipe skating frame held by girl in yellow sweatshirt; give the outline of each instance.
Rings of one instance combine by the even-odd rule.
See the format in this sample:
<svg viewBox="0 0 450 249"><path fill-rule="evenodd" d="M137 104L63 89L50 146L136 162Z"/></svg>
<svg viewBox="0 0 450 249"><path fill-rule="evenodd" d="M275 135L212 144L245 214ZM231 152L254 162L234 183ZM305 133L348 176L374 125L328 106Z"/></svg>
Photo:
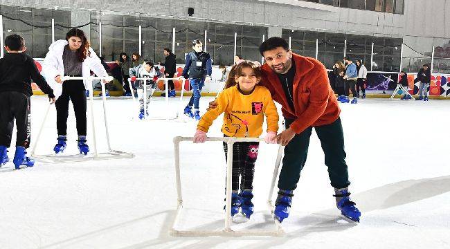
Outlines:
<svg viewBox="0 0 450 249"><path fill-rule="evenodd" d="M227 155L227 167L226 167L226 204L225 204L225 226L223 230L177 230L179 222L179 217L181 210L183 210L183 197L181 196L181 179L180 179L180 153L179 153L179 143L181 141L192 141L192 138L187 137L175 137L174 138L174 153L175 153L175 173L177 181L177 194L178 194L178 205L177 214L175 215L174 222L172 223L172 228L170 228L170 234L172 236L280 236L285 234L282 230L280 221L278 219L273 219L275 229L274 230L231 230L231 170L233 169L233 153L228 153ZM262 142L262 138L206 138L207 142L226 142L228 146L228 151L233 151L233 144L235 142ZM273 216L273 205L272 196L273 189L275 187L276 178L278 176L278 168L280 167L280 161L282 157L284 147L280 146L278 148L278 155L276 158L275 168L273 169L273 177L271 182L271 187L269 190L269 197L267 199L267 206Z"/></svg>

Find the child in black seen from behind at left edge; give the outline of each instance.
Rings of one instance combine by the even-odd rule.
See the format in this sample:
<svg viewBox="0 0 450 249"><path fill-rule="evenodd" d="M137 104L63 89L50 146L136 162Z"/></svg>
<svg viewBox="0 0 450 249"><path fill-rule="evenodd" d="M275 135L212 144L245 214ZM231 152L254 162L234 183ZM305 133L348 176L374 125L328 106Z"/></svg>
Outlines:
<svg viewBox="0 0 450 249"><path fill-rule="evenodd" d="M3 49L3 48L2 48ZM33 159L26 156L30 146L30 96L33 95L31 80L55 103L55 95L37 70L35 61L25 52L24 38L8 35L5 39L6 55L0 59L0 167L9 161L7 149L11 145L12 129L16 120L16 150L12 162L32 167Z"/></svg>

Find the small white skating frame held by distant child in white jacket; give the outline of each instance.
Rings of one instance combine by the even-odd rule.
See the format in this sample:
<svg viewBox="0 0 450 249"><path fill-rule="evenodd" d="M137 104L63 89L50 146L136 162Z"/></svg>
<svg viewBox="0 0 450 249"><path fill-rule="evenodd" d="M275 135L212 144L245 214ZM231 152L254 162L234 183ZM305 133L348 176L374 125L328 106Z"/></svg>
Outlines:
<svg viewBox="0 0 450 249"><path fill-rule="evenodd" d="M144 101L144 113L147 113L147 80L152 80L152 78L145 78L145 77L141 77L141 78L136 78L136 80L142 80L144 82L143 84L143 101ZM178 80L178 78L159 78L158 80L164 80L164 84L165 84L165 104L167 106L167 108L169 109L169 80ZM183 104L183 93L184 93L184 83L186 82L186 79L183 79L183 84L181 84L181 94L180 94L180 108L177 108L177 113L174 117L170 117L170 112L166 111L165 113L165 117L150 117L147 118L147 116L144 116L144 120L175 120L177 118L179 118L179 109L181 109L181 106ZM157 82L155 82L155 84L157 84ZM132 79L128 78L128 85L129 85L129 89L133 89L132 86ZM157 87L157 86L156 86ZM153 93L152 93L153 95ZM134 94L132 93L132 98L133 98L133 102L135 102L137 104L136 98L134 97Z"/></svg>

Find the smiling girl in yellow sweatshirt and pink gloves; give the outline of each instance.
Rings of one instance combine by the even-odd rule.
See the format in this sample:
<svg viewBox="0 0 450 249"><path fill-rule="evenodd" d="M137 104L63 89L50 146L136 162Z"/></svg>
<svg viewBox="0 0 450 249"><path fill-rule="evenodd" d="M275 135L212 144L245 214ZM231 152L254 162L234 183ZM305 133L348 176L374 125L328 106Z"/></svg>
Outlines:
<svg viewBox="0 0 450 249"><path fill-rule="evenodd" d="M242 62L235 66L235 76L228 76L225 90L217 98L217 108L207 111L197 125L194 142L204 142L213 121L222 113L225 137L258 138L262 133L264 116L267 118L267 135L264 141L276 141L278 112L269 90L257 84L261 70L253 62ZM247 218L253 214L253 173L258 156L259 142L235 142L233 144L233 172L231 216L241 210ZM225 158L228 151L224 142ZM241 181L240 181L241 178Z"/></svg>

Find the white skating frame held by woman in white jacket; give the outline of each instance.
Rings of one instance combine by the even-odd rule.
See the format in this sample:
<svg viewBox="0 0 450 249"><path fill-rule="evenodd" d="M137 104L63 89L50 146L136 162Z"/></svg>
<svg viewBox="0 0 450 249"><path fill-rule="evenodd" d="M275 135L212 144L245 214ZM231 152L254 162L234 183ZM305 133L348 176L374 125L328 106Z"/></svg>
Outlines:
<svg viewBox="0 0 450 249"><path fill-rule="evenodd" d="M88 80L89 82L92 82L93 80L113 80L113 77L62 77L62 81L66 80ZM39 129L39 133L37 133L37 138L35 145L33 149L31 150L31 156L40 160L43 160L46 163L67 163L67 162L79 162L79 161L86 161L86 160L104 160L104 159L111 159L111 158L134 158L134 154L123 152L123 151L116 151L111 149L111 143L109 141L109 129L108 129L108 120L107 120L107 109L106 109L106 89L105 89L105 83L100 82L102 85L102 102L103 102L103 116L105 118L105 132L106 132L106 138L107 138L107 145L108 145L108 151L98 153L97 150L97 139L96 139L96 125L94 121L94 115L93 115L93 89L92 84L89 84L89 103L91 106L91 123L92 123L92 136L93 136L93 156L82 156L82 155L72 155L72 156L56 156L56 155L36 155L35 150L39 142L39 138L41 137L42 129L44 128L44 125L46 123L46 119L48 116L48 111L50 111L51 104L48 105L47 111L44 116L44 120L42 121L41 128ZM89 154L88 154L89 155Z"/></svg>

